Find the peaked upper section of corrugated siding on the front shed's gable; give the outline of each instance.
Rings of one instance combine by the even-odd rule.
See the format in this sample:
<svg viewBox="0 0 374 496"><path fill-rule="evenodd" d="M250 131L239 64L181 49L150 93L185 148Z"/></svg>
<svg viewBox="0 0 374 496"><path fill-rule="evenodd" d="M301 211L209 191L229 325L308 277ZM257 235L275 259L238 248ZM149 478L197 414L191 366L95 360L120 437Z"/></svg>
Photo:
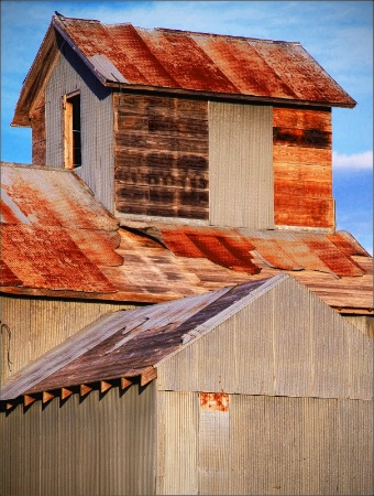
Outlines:
<svg viewBox="0 0 374 496"><path fill-rule="evenodd" d="M371 339L296 284L283 281L160 364L160 388L372 398Z"/></svg>

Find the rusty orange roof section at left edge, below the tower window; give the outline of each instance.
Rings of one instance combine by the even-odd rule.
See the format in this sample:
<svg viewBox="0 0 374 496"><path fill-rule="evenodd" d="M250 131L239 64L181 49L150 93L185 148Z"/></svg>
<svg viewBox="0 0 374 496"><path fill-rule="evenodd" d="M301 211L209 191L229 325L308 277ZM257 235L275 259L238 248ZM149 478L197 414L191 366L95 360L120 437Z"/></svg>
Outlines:
<svg viewBox="0 0 374 496"><path fill-rule="evenodd" d="M111 293L99 265L120 265L118 223L75 174L1 166L1 284Z"/></svg>

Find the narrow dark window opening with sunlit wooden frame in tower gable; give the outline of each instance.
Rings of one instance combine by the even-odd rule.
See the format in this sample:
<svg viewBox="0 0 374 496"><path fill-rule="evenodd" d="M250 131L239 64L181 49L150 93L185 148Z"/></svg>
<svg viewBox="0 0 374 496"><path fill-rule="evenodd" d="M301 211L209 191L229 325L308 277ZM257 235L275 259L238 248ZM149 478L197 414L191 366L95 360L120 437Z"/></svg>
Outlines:
<svg viewBox="0 0 374 496"><path fill-rule="evenodd" d="M65 96L64 114L65 166L67 169L74 169L81 165L80 94Z"/></svg>

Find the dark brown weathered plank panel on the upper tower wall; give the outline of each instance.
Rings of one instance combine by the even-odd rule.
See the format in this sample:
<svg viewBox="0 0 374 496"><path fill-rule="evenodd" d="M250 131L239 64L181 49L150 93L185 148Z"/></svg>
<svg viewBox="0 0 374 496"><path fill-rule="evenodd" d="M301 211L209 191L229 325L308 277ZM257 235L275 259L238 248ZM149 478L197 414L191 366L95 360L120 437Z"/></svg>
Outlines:
<svg viewBox="0 0 374 496"><path fill-rule="evenodd" d="M114 94L119 214L208 218L207 101Z"/></svg>

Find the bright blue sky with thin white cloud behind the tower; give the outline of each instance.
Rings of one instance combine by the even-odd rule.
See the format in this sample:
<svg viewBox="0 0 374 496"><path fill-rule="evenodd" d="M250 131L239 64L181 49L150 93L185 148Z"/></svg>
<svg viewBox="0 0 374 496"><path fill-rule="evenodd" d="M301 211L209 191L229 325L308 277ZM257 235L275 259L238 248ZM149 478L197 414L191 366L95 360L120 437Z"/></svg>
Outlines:
<svg viewBox="0 0 374 496"><path fill-rule="evenodd" d="M31 163L31 132L10 121L54 11L103 23L297 41L358 101L333 109L337 227L373 252L373 2L1 1L1 160Z"/></svg>

